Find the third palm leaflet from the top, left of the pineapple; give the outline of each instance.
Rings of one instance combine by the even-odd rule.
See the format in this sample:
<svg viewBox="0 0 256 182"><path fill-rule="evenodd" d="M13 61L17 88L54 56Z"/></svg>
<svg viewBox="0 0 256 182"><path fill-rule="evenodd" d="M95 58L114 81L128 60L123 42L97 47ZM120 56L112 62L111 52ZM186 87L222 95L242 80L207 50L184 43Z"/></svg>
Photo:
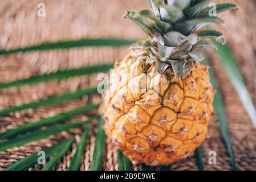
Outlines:
<svg viewBox="0 0 256 182"><path fill-rule="evenodd" d="M51 96L48 98L43 98L40 100L32 101L27 104L17 105L17 106L10 106L6 109L0 110L0 115L9 115L11 112L21 111L29 108L37 108L42 106L50 106L55 104L62 104L64 102L74 100L76 98L80 98L86 95L95 94L97 93L97 88L86 88L86 89L78 89L72 93L64 93L58 96Z"/></svg>

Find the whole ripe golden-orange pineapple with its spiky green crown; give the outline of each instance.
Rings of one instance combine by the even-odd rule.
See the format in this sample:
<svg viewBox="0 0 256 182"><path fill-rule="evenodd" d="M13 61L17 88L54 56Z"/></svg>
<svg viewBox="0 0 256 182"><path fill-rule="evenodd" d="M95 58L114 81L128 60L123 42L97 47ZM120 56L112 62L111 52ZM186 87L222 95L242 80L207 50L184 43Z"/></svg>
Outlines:
<svg viewBox="0 0 256 182"><path fill-rule="evenodd" d="M204 141L213 110L214 89L204 59L209 38L224 44L221 32L205 29L222 23L209 12L237 9L206 0L149 0L150 10L128 11L148 35L115 63L103 94L105 130L135 163L170 164L193 155ZM214 11L213 11L214 12Z"/></svg>

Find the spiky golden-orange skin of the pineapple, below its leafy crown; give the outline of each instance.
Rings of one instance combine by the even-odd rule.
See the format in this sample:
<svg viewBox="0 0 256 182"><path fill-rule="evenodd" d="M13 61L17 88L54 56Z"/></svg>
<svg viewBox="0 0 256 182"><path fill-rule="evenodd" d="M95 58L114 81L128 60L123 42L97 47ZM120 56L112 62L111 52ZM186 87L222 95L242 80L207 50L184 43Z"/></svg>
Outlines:
<svg viewBox="0 0 256 182"><path fill-rule="evenodd" d="M142 53L132 50L115 64L103 94L105 130L133 162L170 164L193 155L204 141L215 91L205 65L178 78L137 61Z"/></svg>

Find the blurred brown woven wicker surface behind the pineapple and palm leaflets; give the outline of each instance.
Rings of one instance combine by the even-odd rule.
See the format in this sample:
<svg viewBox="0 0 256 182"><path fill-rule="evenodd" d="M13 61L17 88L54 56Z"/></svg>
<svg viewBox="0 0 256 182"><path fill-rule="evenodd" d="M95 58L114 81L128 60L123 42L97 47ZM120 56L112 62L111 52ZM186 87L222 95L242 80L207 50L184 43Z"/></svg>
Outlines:
<svg viewBox="0 0 256 182"><path fill-rule="evenodd" d="M46 17L36 16L39 2L46 4ZM221 1L227 2L227 1ZM234 52L239 68L250 90L254 104L256 104L256 69L254 52L256 50L256 3L253 0L228 1L237 3L241 9L222 14L225 20L221 30L227 37L227 42ZM139 0L1 0L0 2L0 48L11 48L37 44L46 41L64 39L79 39L84 37L118 37L127 39L145 38L143 32L133 23L123 18L125 10L139 10L148 7L146 1ZM74 68L81 65L107 63L115 59L122 59L127 48L76 48L65 51L32 52L0 57L0 82L26 78L38 73L56 71L59 68ZM227 79L220 62L216 57L211 58L216 72L218 84L221 88L226 109L237 167L240 170L256 169L256 131L239 101L237 93ZM96 85L94 77L73 78L67 81L50 82L19 89L0 91L0 109L9 105L17 105L39 98L52 96L75 90L79 87ZM50 117L61 111L86 104L88 100L95 102L100 97L87 98L51 107L29 109L8 117L0 117L0 132L33 122L43 117ZM83 115L79 118L86 118ZM72 130L79 134L80 129ZM50 146L58 140L67 138L70 133L63 132L57 137L40 140L0 152L0 170L10 166L18 159L39 150L43 146ZM82 170L90 169L90 160L94 148L94 130L91 131L90 142L87 144L81 165ZM76 135L76 142L79 135ZM76 149L76 142L56 169L65 170L70 163ZM117 150L107 139L105 152L105 170L118 169ZM213 119L209 127L208 138L203 146L206 170L230 170L227 150L222 142L218 122ZM217 165L208 164L208 152L217 152ZM134 167L137 169L137 167ZM34 168L33 168L34 169ZM36 166L35 169L40 169ZM160 168L155 168L160 169ZM189 158L172 165L172 170L197 170L195 158Z"/></svg>

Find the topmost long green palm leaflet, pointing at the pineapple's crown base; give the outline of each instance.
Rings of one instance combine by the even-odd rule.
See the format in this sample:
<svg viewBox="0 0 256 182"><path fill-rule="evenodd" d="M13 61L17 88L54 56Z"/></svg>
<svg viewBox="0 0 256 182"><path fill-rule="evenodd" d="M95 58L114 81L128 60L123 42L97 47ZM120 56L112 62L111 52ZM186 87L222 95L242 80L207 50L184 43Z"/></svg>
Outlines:
<svg viewBox="0 0 256 182"><path fill-rule="evenodd" d="M47 51L52 49L70 49L75 47L121 47L129 46L135 41L125 39L79 39L79 40L68 40L52 43L42 43L35 46L27 46L14 49L0 50L0 55L10 55L18 52L30 52L30 51Z"/></svg>

